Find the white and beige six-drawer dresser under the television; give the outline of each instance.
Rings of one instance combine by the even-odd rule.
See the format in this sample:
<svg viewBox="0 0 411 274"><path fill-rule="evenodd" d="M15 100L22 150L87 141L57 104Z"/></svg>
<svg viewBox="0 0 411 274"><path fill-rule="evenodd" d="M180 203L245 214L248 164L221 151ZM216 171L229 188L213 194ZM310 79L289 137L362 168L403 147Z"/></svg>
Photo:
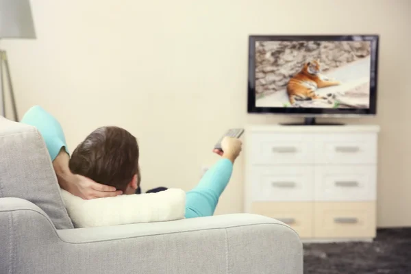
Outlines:
<svg viewBox="0 0 411 274"><path fill-rule="evenodd" d="M375 238L375 125L251 126L245 211L287 223L303 239Z"/></svg>

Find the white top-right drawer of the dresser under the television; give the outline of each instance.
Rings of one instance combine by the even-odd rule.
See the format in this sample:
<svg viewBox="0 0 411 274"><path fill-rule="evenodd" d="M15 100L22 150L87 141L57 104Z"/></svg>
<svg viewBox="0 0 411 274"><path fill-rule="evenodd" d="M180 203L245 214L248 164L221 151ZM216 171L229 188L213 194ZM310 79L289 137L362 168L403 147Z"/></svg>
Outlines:
<svg viewBox="0 0 411 274"><path fill-rule="evenodd" d="M316 164L376 164L377 134L319 134Z"/></svg>

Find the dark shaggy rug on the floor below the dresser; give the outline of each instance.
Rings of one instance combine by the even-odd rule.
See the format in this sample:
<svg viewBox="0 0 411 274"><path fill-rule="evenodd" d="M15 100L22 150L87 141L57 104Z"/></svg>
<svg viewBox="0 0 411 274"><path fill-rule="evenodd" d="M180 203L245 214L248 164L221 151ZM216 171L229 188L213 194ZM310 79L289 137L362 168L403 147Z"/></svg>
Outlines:
<svg viewBox="0 0 411 274"><path fill-rule="evenodd" d="M304 273L411 274L411 228L378 229L373 242L304 244Z"/></svg>

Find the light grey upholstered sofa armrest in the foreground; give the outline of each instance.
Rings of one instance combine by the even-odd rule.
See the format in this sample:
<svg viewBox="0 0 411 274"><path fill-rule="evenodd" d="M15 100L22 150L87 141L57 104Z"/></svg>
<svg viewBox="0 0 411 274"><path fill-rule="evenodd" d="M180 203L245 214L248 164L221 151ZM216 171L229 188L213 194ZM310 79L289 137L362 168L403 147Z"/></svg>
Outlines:
<svg viewBox="0 0 411 274"><path fill-rule="evenodd" d="M56 230L33 203L0 198L0 242L6 273L303 273L297 234L253 214Z"/></svg>

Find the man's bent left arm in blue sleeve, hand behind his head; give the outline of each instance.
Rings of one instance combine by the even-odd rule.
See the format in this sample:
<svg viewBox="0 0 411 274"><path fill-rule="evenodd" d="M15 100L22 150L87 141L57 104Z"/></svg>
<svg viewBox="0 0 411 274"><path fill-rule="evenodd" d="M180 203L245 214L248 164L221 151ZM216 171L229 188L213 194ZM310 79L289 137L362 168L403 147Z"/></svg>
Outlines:
<svg viewBox="0 0 411 274"><path fill-rule="evenodd" d="M60 123L43 108L38 105L30 108L23 116L21 123L36 127L45 140L61 188L83 199L121 194L121 191L116 191L112 186L98 184L92 179L71 173L70 156L63 129Z"/></svg>

